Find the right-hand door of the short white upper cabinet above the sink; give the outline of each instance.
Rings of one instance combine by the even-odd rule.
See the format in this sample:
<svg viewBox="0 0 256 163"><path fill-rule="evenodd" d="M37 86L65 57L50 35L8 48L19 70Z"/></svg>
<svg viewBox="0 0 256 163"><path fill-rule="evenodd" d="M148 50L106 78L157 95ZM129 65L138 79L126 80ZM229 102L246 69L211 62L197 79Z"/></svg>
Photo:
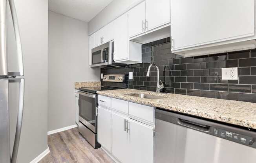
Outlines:
<svg viewBox="0 0 256 163"><path fill-rule="evenodd" d="M146 21L147 30L169 23L170 0L146 0Z"/></svg>

